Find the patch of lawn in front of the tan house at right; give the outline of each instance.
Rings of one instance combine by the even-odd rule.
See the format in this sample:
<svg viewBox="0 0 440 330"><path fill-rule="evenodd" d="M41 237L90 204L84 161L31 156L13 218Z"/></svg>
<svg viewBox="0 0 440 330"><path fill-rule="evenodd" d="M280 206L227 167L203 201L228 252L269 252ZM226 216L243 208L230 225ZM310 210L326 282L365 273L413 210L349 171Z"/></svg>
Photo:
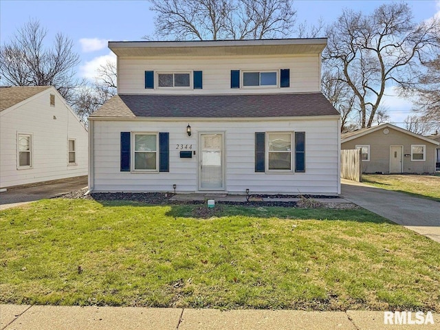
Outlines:
<svg viewBox="0 0 440 330"><path fill-rule="evenodd" d="M362 182L387 190L440 201L440 175L362 175Z"/></svg>

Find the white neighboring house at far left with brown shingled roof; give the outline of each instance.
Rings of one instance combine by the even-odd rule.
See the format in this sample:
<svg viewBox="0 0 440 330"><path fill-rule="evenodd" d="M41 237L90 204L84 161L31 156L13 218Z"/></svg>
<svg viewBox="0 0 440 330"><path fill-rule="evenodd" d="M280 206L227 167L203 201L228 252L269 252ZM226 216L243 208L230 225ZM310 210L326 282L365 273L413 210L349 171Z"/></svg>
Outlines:
<svg viewBox="0 0 440 330"><path fill-rule="evenodd" d="M87 175L88 133L50 86L0 87L0 187Z"/></svg>

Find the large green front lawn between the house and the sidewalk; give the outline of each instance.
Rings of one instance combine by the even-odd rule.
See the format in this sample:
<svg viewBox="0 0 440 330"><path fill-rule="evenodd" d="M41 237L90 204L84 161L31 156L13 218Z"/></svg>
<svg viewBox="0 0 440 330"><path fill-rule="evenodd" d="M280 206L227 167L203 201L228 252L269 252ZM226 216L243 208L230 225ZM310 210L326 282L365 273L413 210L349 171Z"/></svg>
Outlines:
<svg viewBox="0 0 440 330"><path fill-rule="evenodd" d="M0 218L0 303L440 311L440 244L366 210L53 199Z"/></svg>

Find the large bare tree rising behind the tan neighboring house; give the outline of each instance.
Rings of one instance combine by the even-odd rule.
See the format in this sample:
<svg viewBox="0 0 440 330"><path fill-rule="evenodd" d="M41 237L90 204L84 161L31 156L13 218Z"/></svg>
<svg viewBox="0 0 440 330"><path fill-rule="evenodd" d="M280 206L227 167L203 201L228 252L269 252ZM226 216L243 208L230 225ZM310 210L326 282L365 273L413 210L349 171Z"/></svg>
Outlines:
<svg viewBox="0 0 440 330"><path fill-rule="evenodd" d="M327 29L325 66L337 70L360 107L361 127L370 127L385 88L415 85L423 52L436 47L437 20L412 22L406 3L386 3L373 14L344 10Z"/></svg>

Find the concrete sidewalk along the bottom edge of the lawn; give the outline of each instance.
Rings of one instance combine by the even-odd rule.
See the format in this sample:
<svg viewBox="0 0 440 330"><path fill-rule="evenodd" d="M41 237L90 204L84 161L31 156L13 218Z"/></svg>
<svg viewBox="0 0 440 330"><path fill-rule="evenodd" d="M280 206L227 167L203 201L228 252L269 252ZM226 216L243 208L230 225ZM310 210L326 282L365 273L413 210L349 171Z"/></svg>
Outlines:
<svg viewBox="0 0 440 330"><path fill-rule="evenodd" d="M0 305L0 330L440 329L440 314L432 316L434 325L385 325L383 311Z"/></svg>

